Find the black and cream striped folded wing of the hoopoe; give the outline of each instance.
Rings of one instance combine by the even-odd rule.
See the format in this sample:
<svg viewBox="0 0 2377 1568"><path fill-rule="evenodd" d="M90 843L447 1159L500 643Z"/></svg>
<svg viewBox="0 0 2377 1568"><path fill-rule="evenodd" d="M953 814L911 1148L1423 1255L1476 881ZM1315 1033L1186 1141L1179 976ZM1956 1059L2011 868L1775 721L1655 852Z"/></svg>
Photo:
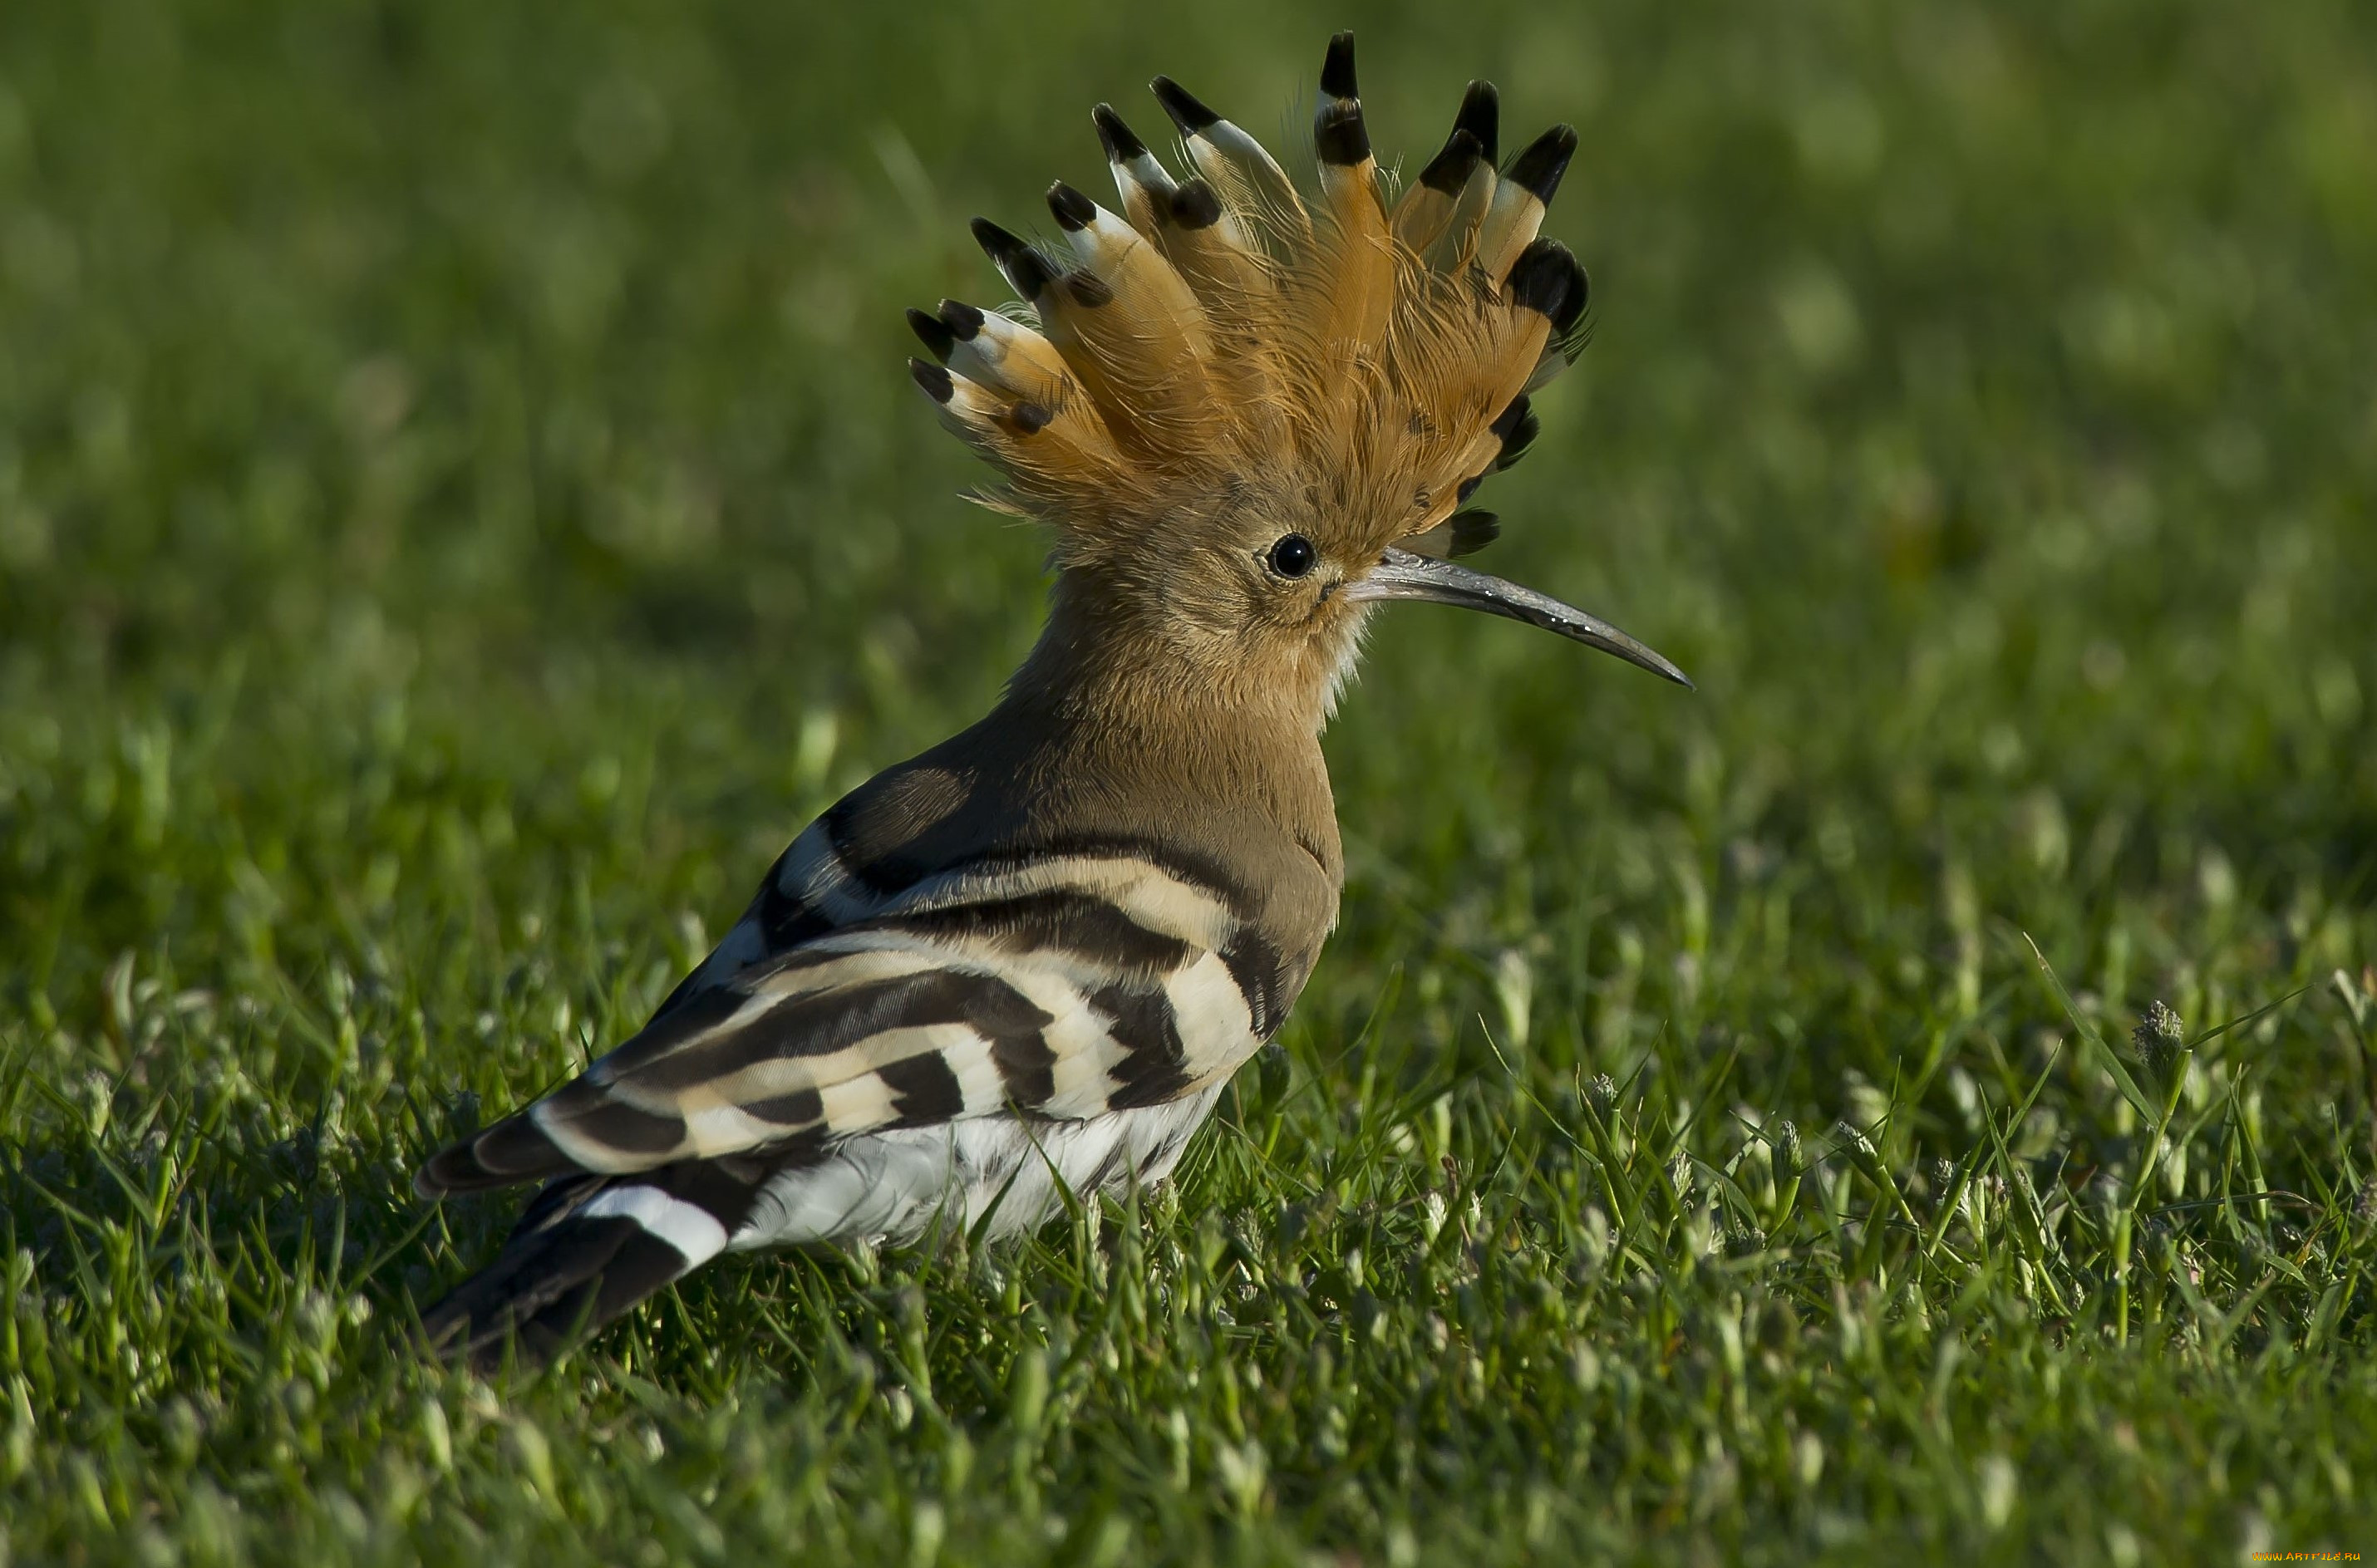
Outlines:
<svg viewBox="0 0 2377 1568"><path fill-rule="evenodd" d="M585 1076L442 1155L425 1193L827 1145L1020 1112L1082 1119L1227 1079L1281 965L1224 879L1141 843L858 877L830 817L718 953Z"/></svg>

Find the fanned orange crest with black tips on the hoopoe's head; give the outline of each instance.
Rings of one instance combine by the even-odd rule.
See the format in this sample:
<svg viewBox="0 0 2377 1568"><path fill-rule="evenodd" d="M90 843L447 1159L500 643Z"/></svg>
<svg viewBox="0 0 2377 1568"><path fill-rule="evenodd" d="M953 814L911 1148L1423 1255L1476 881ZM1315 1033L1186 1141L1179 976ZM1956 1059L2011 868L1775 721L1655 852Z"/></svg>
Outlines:
<svg viewBox="0 0 2377 1568"><path fill-rule="evenodd" d="M1471 83L1445 147L1400 195L1369 150L1353 36L1322 67L1312 169L1169 78L1174 178L1108 107L1120 214L1058 183L1055 259L975 238L1027 311L944 302L910 323L941 418L1005 475L994 506L1058 525L1060 558L1117 558L1257 506L1324 544L1457 556L1462 511L1536 435L1526 394L1574 359L1585 271L1538 238L1576 133L1495 169L1495 93Z"/></svg>

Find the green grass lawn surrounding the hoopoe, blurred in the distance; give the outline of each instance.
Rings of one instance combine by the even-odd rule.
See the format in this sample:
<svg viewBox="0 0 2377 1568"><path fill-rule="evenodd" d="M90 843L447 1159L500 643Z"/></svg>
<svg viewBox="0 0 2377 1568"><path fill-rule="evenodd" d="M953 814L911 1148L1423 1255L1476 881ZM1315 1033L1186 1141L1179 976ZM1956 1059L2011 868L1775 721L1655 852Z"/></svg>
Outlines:
<svg viewBox="0 0 2377 1568"><path fill-rule="evenodd" d="M1169 1193L397 1347L416 1162L970 720L899 306L1172 71L1571 119L1597 335ZM14 1563L2377 1549L2377 31L1747 0L0 7ZM2149 1003L2182 1043L2132 1045ZM2149 1060L2151 1057L2151 1060Z"/></svg>

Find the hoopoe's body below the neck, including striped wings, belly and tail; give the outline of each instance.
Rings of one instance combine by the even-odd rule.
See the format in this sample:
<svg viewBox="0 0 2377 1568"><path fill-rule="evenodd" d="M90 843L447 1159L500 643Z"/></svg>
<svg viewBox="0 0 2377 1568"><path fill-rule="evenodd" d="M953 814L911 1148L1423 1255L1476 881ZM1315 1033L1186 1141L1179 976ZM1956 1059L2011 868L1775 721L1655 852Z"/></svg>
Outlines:
<svg viewBox="0 0 2377 1568"><path fill-rule="evenodd" d="M1257 779L1317 748L1250 770L1029 701L851 791L637 1036L423 1169L547 1183L435 1338L542 1349L725 1250L1003 1233L1172 1171L1333 919L1326 779L1286 813L1314 832Z"/></svg>

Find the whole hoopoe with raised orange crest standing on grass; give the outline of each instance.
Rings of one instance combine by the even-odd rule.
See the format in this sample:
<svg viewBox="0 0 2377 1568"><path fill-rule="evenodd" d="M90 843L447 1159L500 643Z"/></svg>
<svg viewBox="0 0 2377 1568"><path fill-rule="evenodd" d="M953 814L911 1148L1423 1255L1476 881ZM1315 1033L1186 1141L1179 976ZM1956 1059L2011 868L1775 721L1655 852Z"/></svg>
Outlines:
<svg viewBox="0 0 2377 1568"><path fill-rule="evenodd" d="M1343 855L1319 732L1369 606L1509 615L1678 684L1557 599L1455 565L1536 437L1585 271L1538 238L1576 150L1507 166L1471 83L1400 195L1353 36L1303 181L1174 81L1188 173L1112 107L1065 252L975 235L1022 299L910 311L941 421L1055 530L1048 622L972 729L818 817L644 1029L440 1152L428 1197L544 1183L433 1342L544 1359L727 1250L991 1235L1160 1183L1303 991Z"/></svg>

